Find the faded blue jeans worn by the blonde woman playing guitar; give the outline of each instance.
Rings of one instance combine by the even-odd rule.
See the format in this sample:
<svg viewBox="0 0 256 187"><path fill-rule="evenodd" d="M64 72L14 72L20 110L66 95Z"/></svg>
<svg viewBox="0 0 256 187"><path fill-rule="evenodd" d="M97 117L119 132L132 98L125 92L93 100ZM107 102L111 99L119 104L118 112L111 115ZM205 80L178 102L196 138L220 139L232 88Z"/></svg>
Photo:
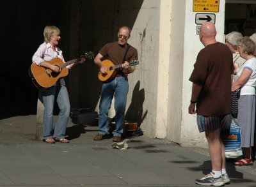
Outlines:
<svg viewBox="0 0 256 187"><path fill-rule="evenodd" d="M54 101L58 103L60 113L57 122L53 126L53 108ZM44 133L43 139L58 137L65 138L68 117L70 114L70 103L68 98L67 87L52 86L42 91L42 99L44 103Z"/></svg>

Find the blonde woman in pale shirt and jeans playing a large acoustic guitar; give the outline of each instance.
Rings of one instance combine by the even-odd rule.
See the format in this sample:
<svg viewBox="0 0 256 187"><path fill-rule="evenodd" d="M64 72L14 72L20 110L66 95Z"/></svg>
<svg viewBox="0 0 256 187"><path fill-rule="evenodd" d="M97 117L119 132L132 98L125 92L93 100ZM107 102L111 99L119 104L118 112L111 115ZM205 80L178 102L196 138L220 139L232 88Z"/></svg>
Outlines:
<svg viewBox="0 0 256 187"><path fill-rule="evenodd" d="M32 57L33 63L38 66L44 66L56 73L61 71L60 66L48 63L55 57L59 57L63 62L64 58L62 51L56 47L60 40L60 29L55 26L46 26L44 29L44 43L42 43ZM74 64L84 63L84 57L81 57L76 63L67 66L69 70ZM65 67L66 68L66 67ZM44 133L43 140L46 143L54 144L55 142L68 143L69 140L65 138L65 132L70 114L70 102L68 98L67 87L65 87L65 80L60 78L54 86L51 86L44 91L41 91L42 100L44 103ZM53 108L54 100L60 108L60 113L56 125L53 126Z"/></svg>

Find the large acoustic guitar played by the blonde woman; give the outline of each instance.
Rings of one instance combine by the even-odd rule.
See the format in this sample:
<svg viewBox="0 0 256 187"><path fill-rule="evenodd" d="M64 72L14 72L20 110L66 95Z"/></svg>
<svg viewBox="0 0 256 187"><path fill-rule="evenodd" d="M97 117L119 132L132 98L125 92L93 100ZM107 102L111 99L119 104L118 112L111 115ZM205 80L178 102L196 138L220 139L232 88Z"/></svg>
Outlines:
<svg viewBox="0 0 256 187"><path fill-rule="evenodd" d="M93 59L94 54L93 52L86 52L82 56L85 59ZM58 73L49 68L45 68L44 66L38 66L37 64L32 63L28 70L29 77L31 77L33 84L38 89L45 90L48 87L53 86L61 77L66 77L68 75L68 69L66 66L78 62L80 58L81 57L77 57L76 59L72 59L66 63L63 63L59 57L56 57L51 61L47 61L47 63L60 67L61 71Z"/></svg>

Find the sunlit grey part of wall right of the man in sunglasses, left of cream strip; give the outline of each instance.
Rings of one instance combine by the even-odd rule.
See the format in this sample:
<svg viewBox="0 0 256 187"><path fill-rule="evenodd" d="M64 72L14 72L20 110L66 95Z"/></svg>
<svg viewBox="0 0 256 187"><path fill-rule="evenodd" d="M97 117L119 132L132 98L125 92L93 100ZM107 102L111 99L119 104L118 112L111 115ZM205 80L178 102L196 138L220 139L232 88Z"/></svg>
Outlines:
<svg viewBox="0 0 256 187"><path fill-rule="evenodd" d="M153 138L157 131L160 2L143 1L132 28L130 43L138 49L140 65L129 75L126 115L141 123L145 135Z"/></svg>

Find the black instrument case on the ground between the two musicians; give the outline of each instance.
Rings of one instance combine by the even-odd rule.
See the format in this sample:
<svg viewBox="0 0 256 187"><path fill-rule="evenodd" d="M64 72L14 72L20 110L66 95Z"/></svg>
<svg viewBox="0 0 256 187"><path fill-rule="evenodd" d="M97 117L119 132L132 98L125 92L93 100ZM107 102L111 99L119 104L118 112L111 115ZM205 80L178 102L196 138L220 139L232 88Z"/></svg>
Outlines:
<svg viewBox="0 0 256 187"><path fill-rule="evenodd" d="M98 125L99 114L90 108L75 108L70 112L74 124Z"/></svg>

